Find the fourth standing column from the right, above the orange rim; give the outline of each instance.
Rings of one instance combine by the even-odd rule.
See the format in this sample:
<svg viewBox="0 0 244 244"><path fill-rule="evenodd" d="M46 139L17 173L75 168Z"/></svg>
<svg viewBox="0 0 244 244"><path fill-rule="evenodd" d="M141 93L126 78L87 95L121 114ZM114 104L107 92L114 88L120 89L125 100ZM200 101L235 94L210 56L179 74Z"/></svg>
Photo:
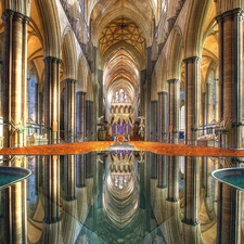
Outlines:
<svg viewBox="0 0 244 244"><path fill-rule="evenodd" d="M158 92L158 141L168 141L168 92Z"/></svg>

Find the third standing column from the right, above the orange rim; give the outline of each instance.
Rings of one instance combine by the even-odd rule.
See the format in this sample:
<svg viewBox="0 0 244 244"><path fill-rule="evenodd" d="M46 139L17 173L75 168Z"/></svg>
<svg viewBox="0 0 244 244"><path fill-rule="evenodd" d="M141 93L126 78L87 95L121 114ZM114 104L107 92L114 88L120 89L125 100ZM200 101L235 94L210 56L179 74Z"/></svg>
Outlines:
<svg viewBox="0 0 244 244"><path fill-rule="evenodd" d="M170 79L169 85L169 130L170 142L178 142L180 113L180 80Z"/></svg>

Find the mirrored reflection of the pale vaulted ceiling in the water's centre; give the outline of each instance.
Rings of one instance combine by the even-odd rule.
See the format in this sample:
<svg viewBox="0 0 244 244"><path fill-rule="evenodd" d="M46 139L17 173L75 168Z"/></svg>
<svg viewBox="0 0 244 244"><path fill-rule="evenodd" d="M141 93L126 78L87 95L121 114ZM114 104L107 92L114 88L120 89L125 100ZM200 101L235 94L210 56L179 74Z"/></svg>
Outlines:
<svg viewBox="0 0 244 244"><path fill-rule="evenodd" d="M125 228L139 209L139 185L133 169L129 170L134 165L134 157L126 153L112 154L111 158L108 163L115 168L107 169L104 182L104 214L117 228Z"/></svg>

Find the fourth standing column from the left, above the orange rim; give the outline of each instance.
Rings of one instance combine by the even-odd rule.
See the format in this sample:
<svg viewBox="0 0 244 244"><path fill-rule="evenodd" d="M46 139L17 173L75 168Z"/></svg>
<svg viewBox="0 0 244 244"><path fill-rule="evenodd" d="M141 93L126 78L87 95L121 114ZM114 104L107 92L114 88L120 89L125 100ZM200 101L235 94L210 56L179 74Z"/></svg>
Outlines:
<svg viewBox="0 0 244 244"><path fill-rule="evenodd" d="M77 141L85 139L86 133L86 93L76 92L76 134Z"/></svg>

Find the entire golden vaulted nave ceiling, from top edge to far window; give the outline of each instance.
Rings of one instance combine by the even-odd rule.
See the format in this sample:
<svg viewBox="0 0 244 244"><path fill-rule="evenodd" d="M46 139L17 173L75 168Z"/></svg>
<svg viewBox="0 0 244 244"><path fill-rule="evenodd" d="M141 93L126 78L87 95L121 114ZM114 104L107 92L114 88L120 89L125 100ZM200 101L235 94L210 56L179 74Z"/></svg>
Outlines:
<svg viewBox="0 0 244 244"><path fill-rule="evenodd" d="M139 72L146 66L153 16L151 2L144 0L102 0L94 5L91 38L99 49L99 68L104 70L104 95L111 98L124 89L133 100L139 92Z"/></svg>

